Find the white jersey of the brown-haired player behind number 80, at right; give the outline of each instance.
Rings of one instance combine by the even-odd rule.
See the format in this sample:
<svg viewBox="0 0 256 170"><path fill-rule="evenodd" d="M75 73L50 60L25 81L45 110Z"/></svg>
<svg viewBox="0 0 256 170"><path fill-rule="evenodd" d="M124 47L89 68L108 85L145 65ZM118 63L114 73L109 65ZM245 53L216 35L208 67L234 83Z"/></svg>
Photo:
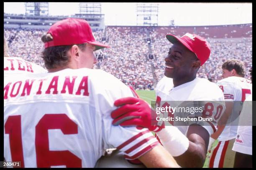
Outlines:
<svg viewBox="0 0 256 170"><path fill-rule="evenodd" d="M223 90L225 101L241 101L242 103L248 95L252 94L251 80L243 77L227 77L218 81L217 85ZM226 141L236 138L237 125L240 117L237 117L237 115L241 112L241 108L238 103L234 103L232 113L218 140Z"/></svg>

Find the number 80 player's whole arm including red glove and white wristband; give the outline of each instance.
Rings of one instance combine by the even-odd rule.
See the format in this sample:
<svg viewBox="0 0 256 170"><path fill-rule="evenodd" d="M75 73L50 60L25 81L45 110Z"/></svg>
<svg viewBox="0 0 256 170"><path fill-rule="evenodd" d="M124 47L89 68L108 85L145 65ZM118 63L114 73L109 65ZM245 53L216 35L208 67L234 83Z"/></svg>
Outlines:
<svg viewBox="0 0 256 170"><path fill-rule="evenodd" d="M186 137L174 126L156 125L154 110L151 110L141 99L126 97L116 100L114 105L121 106L111 113L114 125L137 125L155 131L164 148L175 157L179 165L182 167L204 165L210 137L205 127L190 125Z"/></svg>

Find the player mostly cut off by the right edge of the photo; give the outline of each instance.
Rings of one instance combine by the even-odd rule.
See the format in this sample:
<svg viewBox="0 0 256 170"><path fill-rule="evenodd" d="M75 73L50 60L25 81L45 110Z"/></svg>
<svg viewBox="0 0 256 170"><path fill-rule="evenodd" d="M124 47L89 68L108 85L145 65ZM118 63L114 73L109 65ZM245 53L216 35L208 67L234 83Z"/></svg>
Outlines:
<svg viewBox="0 0 256 170"><path fill-rule="evenodd" d="M249 70L252 80L252 67ZM252 168L252 95L243 103L232 150L236 151L234 168Z"/></svg>

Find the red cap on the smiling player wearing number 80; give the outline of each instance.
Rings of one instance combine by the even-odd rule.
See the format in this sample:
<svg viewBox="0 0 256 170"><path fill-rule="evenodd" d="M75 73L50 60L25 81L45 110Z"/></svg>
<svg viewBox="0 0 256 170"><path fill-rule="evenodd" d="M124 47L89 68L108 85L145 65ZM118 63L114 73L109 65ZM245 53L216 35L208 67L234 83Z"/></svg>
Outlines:
<svg viewBox="0 0 256 170"><path fill-rule="evenodd" d="M203 65L210 56L210 44L203 37L195 34L186 33L180 38L172 34L167 34L166 38L173 44L179 41L185 47L187 47L187 49L194 52L197 58L201 61L201 65Z"/></svg>

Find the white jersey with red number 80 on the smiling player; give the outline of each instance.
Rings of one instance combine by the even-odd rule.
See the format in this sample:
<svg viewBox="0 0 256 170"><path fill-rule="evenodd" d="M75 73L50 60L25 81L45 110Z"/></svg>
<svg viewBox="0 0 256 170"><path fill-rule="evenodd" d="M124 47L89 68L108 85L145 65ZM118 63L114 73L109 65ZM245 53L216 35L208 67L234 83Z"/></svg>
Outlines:
<svg viewBox="0 0 256 170"><path fill-rule="evenodd" d="M205 111L195 113L194 115L188 113L187 115L182 115L182 117L212 117L212 121L196 122L197 124L202 125L202 127L204 127L210 135L216 131L215 125L217 124L220 115L225 110L223 92L215 83L210 82L209 80L204 78L196 77L195 80L174 87L172 78L164 76L156 85L156 96L156 103L159 104L160 101L168 101L172 103L171 107L186 106L188 103L177 101L202 101L202 103L205 103ZM164 104L161 103L161 105ZM190 102L189 105L197 105L197 102ZM209 112L207 111L208 109ZM202 115L202 113L205 115ZM187 130L189 127L188 124L183 123L184 125L182 125L181 122L177 121L174 121L171 124L177 126L177 128L184 135L187 134Z"/></svg>

